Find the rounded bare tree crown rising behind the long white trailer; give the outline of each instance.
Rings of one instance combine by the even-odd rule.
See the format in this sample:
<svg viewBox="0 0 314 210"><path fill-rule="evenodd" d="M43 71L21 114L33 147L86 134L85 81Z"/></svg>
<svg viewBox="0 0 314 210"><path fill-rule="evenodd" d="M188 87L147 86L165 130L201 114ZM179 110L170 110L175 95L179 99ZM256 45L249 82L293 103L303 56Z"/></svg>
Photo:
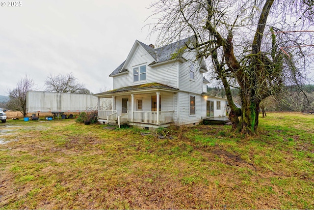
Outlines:
<svg viewBox="0 0 314 210"><path fill-rule="evenodd" d="M77 80L72 72L65 76L61 74L57 76L50 74L45 81L46 90L69 93L78 93L81 90L87 90L85 89L85 85L78 83Z"/></svg>

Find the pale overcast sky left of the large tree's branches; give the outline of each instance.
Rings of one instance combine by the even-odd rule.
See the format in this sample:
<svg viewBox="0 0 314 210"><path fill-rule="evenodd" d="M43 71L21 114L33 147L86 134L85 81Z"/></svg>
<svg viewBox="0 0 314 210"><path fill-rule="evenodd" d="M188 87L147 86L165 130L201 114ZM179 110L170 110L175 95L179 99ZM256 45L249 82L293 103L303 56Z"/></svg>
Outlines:
<svg viewBox="0 0 314 210"><path fill-rule="evenodd" d="M4 2L0 95L8 95L26 74L37 90L44 90L51 73L71 72L93 93L110 90L108 75L127 58L135 40L156 41L148 38L148 28L142 29L151 0L22 0L17 7Z"/></svg>

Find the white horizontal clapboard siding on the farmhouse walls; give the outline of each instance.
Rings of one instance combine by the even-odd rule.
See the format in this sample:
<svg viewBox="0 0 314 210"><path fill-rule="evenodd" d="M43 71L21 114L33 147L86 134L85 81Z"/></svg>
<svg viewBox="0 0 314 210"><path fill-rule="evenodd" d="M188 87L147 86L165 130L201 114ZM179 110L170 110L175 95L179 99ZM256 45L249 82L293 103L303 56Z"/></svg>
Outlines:
<svg viewBox="0 0 314 210"><path fill-rule="evenodd" d="M161 97L161 111L175 111L175 120L177 125L184 124L198 124L206 118L206 102L214 101L214 117L225 116L225 100L219 98L205 98L201 94L207 92L207 85L203 83L203 73L201 73L200 64L195 60L195 52L186 52L183 58L187 62L166 62L148 66L153 62L153 58L140 46L135 45L133 57L127 63L126 68L129 73L113 77L113 89L118 89L127 86L146 84L146 83L161 83L180 90L178 93L160 92ZM195 78L189 79L189 65L194 62ZM133 82L133 67L146 64L146 80ZM137 99L142 99L142 111L151 111L152 109L152 95L149 94L135 94L133 110L136 111ZM195 96L195 115L190 115L190 95ZM131 110L131 94L125 96L117 96L116 110L118 115L122 113L122 98L129 98L129 110ZM221 109L217 110L217 100L221 101Z"/></svg>

